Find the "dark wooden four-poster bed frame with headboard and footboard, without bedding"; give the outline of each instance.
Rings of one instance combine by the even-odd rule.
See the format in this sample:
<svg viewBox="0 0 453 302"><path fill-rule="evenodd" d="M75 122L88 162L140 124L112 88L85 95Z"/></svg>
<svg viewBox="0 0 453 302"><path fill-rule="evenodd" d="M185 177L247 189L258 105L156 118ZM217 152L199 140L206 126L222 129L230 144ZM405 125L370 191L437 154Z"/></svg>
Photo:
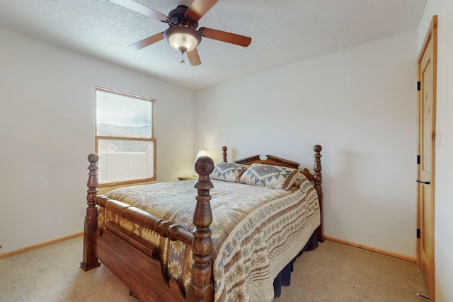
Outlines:
<svg viewBox="0 0 453 302"><path fill-rule="evenodd" d="M226 147L222 147L223 161L226 160ZM319 196L321 209L321 225L316 229L318 240L325 240L323 234L323 190L321 174L320 145L314 146L314 173L304 169L301 172L314 183ZM214 286L211 263L211 233L212 212L210 206L210 173L214 169L211 158L202 156L195 161L198 180L194 187L197 204L193 214L195 230L190 233L172 221L159 219L152 214L128 204L98 195L98 160L96 153L88 156L88 191L86 200L88 207L84 223L84 255L81 268L84 271L101 265L99 260L115 274L129 289L130 294L142 301L214 301ZM289 168L299 168L299 163L283 158L267 155L261 160L259 155L242 158L235 163L252 164L265 163ZM195 193L195 192L194 192ZM125 219L149 228L160 236L170 240L180 240L192 247L194 264L188 289L180 288L175 279L168 279L164 273L164 265L158 259L157 250L132 233L126 233L113 223L103 221L102 228L98 227L98 209L106 207ZM134 265L131 265L131 262Z"/></svg>

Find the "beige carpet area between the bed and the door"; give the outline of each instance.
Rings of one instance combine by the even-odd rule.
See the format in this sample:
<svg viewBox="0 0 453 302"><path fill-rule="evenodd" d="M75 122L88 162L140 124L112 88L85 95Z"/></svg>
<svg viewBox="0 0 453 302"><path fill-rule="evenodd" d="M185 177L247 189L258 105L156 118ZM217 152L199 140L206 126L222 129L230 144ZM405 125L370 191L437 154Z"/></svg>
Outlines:
<svg viewBox="0 0 453 302"><path fill-rule="evenodd" d="M294 263L291 286L274 302L429 301L413 262L326 241Z"/></svg>

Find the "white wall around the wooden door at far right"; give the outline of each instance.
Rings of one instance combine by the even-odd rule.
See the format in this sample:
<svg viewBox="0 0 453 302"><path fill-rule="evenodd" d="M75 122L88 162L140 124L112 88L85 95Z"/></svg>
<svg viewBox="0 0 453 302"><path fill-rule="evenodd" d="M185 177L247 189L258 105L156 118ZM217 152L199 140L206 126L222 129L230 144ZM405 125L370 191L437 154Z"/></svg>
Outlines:
<svg viewBox="0 0 453 302"><path fill-rule="evenodd" d="M418 27L418 50L433 15L437 15L437 120L441 132L436 149L435 282L436 301L453 301L453 1L428 0Z"/></svg>

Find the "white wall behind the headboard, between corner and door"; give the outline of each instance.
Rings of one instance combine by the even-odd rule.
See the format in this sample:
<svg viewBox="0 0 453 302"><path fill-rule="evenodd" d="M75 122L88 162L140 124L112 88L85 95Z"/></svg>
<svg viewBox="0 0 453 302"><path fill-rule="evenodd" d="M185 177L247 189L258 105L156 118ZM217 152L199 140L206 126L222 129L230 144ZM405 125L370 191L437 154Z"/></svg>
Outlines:
<svg viewBox="0 0 453 302"><path fill-rule="evenodd" d="M416 48L411 30L197 91L195 147L313 167L321 144L326 235L415 258Z"/></svg>

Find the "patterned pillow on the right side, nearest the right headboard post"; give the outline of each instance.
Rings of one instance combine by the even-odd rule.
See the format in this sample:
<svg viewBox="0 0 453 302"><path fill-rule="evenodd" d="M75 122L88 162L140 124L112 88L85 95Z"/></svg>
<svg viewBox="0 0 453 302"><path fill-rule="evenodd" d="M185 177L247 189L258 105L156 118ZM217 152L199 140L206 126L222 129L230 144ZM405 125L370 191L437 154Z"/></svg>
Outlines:
<svg viewBox="0 0 453 302"><path fill-rule="evenodd" d="M298 169L253 163L242 174L239 182L287 190L297 180Z"/></svg>

